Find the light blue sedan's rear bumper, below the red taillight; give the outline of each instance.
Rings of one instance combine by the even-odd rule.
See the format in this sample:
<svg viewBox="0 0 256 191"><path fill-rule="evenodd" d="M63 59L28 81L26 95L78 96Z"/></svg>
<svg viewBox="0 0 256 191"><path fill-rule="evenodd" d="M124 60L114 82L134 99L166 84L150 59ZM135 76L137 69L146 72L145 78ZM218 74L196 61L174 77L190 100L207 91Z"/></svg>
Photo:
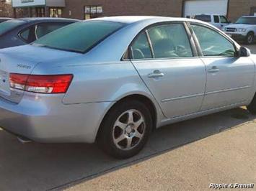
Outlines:
<svg viewBox="0 0 256 191"><path fill-rule="evenodd" d="M0 126L32 141L93 143L111 103L64 105L62 98L25 93L17 105L0 100Z"/></svg>

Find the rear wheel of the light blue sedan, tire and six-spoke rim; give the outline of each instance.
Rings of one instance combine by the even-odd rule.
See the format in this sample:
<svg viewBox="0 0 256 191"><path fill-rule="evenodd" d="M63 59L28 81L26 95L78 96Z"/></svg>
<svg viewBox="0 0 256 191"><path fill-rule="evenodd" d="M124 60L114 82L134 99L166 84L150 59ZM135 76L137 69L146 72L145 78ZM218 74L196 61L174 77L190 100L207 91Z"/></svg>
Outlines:
<svg viewBox="0 0 256 191"><path fill-rule="evenodd" d="M97 142L112 157L126 159L143 149L153 126L149 108L141 101L123 101L110 109Z"/></svg>

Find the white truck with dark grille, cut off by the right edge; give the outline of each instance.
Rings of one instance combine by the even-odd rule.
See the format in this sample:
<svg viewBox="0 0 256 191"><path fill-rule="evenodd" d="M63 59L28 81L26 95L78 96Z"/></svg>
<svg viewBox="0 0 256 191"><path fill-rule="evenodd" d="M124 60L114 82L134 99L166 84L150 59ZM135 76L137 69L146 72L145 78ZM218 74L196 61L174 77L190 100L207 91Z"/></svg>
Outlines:
<svg viewBox="0 0 256 191"><path fill-rule="evenodd" d="M234 24L223 27L222 30L237 41L252 44L256 35L256 16L240 17Z"/></svg>

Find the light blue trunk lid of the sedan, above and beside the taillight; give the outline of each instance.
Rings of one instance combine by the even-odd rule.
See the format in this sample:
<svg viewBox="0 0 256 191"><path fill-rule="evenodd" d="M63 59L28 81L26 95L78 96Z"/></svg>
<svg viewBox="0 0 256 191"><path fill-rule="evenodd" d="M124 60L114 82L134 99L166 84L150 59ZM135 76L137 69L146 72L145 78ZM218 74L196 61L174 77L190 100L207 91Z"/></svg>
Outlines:
<svg viewBox="0 0 256 191"><path fill-rule="evenodd" d="M24 91L10 88L11 73L30 75L40 62L56 61L77 55L72 52L25 45L0 50L0 98L12 103L21 101Z"/></svg>

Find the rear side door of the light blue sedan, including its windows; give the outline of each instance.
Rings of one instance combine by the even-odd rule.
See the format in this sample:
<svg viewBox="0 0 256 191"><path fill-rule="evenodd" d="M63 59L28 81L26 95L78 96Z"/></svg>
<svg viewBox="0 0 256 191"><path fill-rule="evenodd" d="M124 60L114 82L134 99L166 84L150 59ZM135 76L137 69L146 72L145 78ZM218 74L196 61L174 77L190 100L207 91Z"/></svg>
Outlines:
<svg viewBox="0 0 256 191"><path fill-rule="evenodd" d="M199 111L206 87L205 65L183 23L149 27L131 45L131 62L167 118Z"/></svg>

